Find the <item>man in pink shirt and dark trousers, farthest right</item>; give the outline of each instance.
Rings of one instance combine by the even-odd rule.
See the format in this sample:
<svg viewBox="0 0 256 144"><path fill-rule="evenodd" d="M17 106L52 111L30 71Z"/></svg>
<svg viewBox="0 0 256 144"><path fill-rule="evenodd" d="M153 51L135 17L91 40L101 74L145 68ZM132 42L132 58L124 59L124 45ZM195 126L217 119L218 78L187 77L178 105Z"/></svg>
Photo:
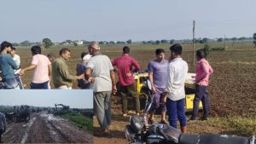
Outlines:
<svg viewBox="0 0 256 144"><path fill-rule="evenodd" d="M199 102L203 105L203 116L201 120L207 120L209 115L209 96L208 84L209 77L212 74L212 66L205 59L203 49L196 51L196 59L198 60L195 73L195 99L193 101L193 112L190 120L195 120L198 112Z"/></svg>

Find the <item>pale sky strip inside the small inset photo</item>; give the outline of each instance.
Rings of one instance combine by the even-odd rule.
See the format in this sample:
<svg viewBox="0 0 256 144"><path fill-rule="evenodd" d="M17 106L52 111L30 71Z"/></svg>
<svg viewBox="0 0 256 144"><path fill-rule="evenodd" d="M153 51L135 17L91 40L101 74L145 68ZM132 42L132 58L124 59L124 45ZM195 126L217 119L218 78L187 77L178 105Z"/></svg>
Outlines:
<svg viewBox="0 0 256 144"><path fill-rule="evenodd" d="M63 104L71 108L93 108L92 90L0 90L0 106L55 107L55 104Z"/></svg>

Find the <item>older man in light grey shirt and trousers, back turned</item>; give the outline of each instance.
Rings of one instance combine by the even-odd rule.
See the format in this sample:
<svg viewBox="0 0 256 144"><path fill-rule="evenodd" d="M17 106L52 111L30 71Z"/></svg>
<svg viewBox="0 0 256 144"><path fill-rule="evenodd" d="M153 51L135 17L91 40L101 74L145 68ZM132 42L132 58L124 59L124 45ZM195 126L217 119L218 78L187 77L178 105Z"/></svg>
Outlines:
<svg viewBox="0 0 256 144"><path fill-rule="evenodd" d="M107 55L100 54L98 43L91 42L88 51L92 57L84 74L92 82L94 112L101 125L102 135L108 135L111 123L111 92L116 92L113 66Z"/></svg>

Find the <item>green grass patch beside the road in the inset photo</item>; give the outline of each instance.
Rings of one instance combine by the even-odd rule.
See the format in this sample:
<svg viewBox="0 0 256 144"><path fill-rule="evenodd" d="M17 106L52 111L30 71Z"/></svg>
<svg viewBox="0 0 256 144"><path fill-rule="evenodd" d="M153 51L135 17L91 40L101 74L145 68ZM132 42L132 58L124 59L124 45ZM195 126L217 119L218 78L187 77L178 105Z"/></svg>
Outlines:
<svg viewBox="0 0 256 144"><path fill-rule="evenodd" d="M79 128L89 131L90 134L93 133L92 118L88 118L81 113L66 113L61 117L72 121Z"/></svg>

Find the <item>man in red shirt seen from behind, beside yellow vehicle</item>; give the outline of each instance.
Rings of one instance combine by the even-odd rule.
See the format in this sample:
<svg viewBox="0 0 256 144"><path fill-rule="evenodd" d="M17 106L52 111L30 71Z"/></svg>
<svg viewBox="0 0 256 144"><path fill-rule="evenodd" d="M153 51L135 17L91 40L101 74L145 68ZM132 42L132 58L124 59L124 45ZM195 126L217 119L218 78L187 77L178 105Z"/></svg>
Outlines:
<svg viewBox="0 0 256 144"><path fill-rule="evenodd" d="M136 101L136 110L137 114L140 112L140 100L137 95L137 85L132 77L134 72L138 72L140 66L138 65L137 61L134 60L130 55L130 48L125 46L123 48L123 55L119 56L118 58L112 61L112 65L118 68L119 74L119 85L120 85L120 92L122 95L122 103L123 103L123 116L127 116L127 93L129 92L132 97L135 98ZM132 66L134 68L132 69Z"/></svg>

